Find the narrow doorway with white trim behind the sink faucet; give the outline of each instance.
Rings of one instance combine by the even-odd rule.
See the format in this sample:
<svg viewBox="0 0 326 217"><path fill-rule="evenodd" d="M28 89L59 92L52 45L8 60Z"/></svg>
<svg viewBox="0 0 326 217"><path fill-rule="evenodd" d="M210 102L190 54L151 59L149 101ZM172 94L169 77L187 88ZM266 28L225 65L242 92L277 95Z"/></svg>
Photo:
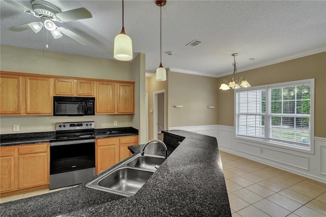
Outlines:
<svg viewBox="0 0 326 217"><path fill-rule="evenodd" d="M166 94L165 90L154 92L154 139L162 140L161 130L165 130L166 123Z"/></svg>

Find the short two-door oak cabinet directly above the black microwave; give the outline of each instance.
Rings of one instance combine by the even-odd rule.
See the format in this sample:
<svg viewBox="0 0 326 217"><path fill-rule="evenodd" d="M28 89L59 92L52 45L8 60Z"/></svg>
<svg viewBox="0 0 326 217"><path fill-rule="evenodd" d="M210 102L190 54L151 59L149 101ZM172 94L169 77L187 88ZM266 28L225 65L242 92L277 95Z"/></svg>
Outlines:
<svg viewBox="0 0 326 217"><path fill-rule="evenodd" d="M94 81L77 79L55 79L57 96L94 96Z"/></svg>

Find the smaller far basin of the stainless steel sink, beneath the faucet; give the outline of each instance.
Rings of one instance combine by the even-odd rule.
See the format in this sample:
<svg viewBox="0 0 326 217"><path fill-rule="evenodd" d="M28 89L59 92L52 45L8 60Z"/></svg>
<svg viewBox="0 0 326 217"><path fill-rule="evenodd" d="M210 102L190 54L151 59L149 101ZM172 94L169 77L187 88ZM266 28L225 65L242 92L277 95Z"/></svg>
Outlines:
<svg viewBox="0 0 326 217"><path fill-rule="evenodd" d="M127 163L129 167L142 168L148 170L156 170L163 162L165 161L164 157L160 156L139 156L130 160Z"/></svg>

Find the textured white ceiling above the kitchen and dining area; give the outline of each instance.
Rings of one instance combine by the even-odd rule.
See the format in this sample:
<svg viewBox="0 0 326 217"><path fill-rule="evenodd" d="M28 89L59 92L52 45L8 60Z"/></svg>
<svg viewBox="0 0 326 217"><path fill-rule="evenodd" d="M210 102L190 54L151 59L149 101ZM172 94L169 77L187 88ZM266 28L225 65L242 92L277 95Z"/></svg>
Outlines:
<svg viewBox="0 0 326 217"><path fill-rule="evenodd" d="M30 1L17 1L31 8ZM57 23L86 38L81 45L46 31L12 32L39 19L1 0L0 43L104 59L113 58L114 38L122 27L122 1L48 1L68 11L84 7L93 18ZM159 66L159 7L155 1L125 1L124 26L133 55L146 53L146 69ZM194 39L203 41L187 47ZM169 56L166 52L172 51ZM173 71L222 76L326 51L326 1L167 1L162 7L162 65ZM255 60L250 60L254 58Z"/></svg>

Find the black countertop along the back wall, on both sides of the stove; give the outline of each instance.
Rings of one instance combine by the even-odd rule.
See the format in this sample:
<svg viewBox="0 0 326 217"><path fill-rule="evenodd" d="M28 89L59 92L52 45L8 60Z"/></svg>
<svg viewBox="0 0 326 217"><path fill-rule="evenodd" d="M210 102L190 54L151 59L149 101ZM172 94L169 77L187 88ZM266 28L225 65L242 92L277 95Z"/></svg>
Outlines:
<svg viewBox="0 0 326 217"><path fill-rule="evenodd" d="M48 143L55 135L55 131L2 134L0 135L0 146ZM138 129L133 127L95 129L95 139L125 137L128 135L138 135Z"/></svg>

